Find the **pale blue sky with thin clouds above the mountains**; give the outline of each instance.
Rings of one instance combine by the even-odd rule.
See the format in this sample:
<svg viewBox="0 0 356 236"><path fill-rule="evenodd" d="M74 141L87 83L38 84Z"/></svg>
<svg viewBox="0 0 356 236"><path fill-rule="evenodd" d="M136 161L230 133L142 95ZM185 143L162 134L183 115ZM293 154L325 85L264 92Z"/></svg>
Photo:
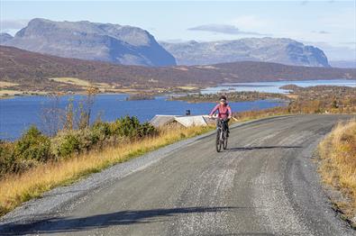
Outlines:
<svg viewBox="0 0 356 236"><path fill-rule="evenodd" d="M140 27L158 41L291 38L329 60L356 60L356 0L350 1L0 1L0 31L33 18Z"/></svg>

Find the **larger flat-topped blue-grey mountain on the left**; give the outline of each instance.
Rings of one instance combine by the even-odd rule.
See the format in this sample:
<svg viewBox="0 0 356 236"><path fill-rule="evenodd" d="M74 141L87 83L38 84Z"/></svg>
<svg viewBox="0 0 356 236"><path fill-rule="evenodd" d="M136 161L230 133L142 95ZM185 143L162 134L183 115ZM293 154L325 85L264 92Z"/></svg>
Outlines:
<svg viewBox="0 0 356 236"><path fill-rule="evenodd" d="M155 67L176 65L174 57L149 32L132 26L33 19L14 38L8 36L2 35L0 43L64 58Z"/></svg>

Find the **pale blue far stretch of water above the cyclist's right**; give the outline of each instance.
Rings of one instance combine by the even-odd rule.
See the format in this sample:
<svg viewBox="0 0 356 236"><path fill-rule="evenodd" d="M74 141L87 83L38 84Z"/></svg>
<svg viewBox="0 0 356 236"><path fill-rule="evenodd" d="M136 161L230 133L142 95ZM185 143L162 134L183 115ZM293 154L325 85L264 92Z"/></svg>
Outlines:
<svg viewBox="0 0 356 236"><path fill-rule="evenodd" d="M255 82L255 83L232 83L221 86L208 87L202 90L202 94L212 94L222 90L233 91L258 91L265 93L288 93L287 90L280 89L285 85L296 86L356 86L356 80L333 79L333 80L305 80L305 81L275 81L275 82Z"/></svg>

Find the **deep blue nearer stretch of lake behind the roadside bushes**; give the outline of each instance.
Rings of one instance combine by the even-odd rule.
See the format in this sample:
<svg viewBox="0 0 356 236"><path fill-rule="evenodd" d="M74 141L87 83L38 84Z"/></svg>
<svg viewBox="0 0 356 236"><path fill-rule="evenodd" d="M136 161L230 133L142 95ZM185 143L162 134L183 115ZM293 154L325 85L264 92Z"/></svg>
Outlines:
<svg viewBox="0 0 356 236"><path fill-rule="evenodd" d="M93 106L92 118L101 113L104 121L114 121L125 114L136 115L141 122L150 121L156 114L206 114L214 103L188 104L181 101L166 101L159 96L154 100L125 101L128 95L97 95ZM82 95L65 95L59 99L59 107L65 108L68 100L74 103L83 99ZM14 140L21 136L31 124L43 127L41 113L43 109L52 107L53 99L47 96L18 96L10 99L0 99L0 139ZM254 102L231 103L233 111L264 109L281 105L276 100L261 100Z"/></svg>

